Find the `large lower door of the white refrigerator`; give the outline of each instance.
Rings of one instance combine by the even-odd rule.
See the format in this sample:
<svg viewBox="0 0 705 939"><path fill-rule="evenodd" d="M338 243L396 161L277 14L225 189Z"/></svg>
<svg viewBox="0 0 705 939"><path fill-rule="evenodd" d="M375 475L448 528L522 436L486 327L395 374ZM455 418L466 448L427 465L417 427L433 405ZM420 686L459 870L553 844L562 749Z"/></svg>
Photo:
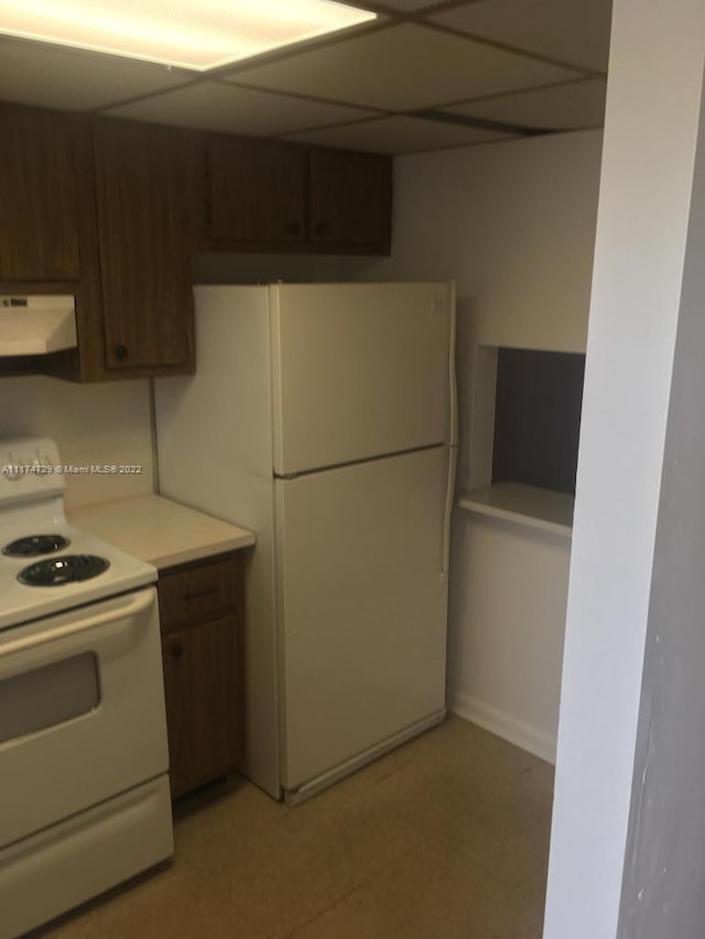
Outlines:
<svg viewBox="0 0 705 939"><path fill-rule="evenodd" d="M283 784L445 707L444 447L278 480Z"/></svg>

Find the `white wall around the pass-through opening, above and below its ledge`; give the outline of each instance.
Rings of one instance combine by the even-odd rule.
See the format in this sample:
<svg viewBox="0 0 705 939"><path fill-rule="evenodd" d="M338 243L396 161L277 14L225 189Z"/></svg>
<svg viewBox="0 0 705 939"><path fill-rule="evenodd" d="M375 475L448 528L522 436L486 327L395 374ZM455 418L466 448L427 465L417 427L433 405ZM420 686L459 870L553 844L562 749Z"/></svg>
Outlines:
<svg viewBox="0 0 705 939"><path fill-rule="evenodd" d="M398 159L393 253L367 277L455 280L458 488L470 460L478 343L584 351L601 133ZM449 703L552 758L570 541L456 511Z"/></svg>

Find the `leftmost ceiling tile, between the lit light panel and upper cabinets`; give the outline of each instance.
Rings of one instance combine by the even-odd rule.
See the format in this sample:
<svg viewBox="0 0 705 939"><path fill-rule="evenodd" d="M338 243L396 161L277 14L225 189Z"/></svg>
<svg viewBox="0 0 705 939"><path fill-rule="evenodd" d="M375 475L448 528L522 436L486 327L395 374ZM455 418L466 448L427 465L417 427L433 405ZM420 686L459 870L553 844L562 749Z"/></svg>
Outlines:
<svg viewBox="0 0 705 939"><path fill-rule="evenodd" d="M189 74L163 65L0 40L0 97L21 105L90 111L172 88Z"/></svg>

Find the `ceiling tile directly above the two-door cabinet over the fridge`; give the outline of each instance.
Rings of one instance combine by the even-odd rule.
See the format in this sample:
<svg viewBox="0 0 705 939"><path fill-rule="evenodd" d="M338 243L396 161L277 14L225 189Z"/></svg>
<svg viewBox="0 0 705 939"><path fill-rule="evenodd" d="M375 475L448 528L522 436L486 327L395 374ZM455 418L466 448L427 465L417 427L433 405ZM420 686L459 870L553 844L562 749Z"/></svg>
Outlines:
<svg viewBox="0 0 705 939"><path fill-rule="evenodd" d="M288 134L290 140L376 153L413 153L502 140L508 134L421 118L380 118L338 128Z"/></svg>

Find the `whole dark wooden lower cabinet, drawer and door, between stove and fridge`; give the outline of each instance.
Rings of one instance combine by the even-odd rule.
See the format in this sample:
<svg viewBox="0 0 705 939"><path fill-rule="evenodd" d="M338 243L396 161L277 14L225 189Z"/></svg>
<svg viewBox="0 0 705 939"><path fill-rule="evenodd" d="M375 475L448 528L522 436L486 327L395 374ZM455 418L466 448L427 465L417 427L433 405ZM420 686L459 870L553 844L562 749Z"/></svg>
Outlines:
<svg viewBox="0 0 705 939"><path fill-rule="evenodd" d="M237 555L159 581L172 797L231 773L243 744ZM181 598L181 599L180 599Z"/></svg>

